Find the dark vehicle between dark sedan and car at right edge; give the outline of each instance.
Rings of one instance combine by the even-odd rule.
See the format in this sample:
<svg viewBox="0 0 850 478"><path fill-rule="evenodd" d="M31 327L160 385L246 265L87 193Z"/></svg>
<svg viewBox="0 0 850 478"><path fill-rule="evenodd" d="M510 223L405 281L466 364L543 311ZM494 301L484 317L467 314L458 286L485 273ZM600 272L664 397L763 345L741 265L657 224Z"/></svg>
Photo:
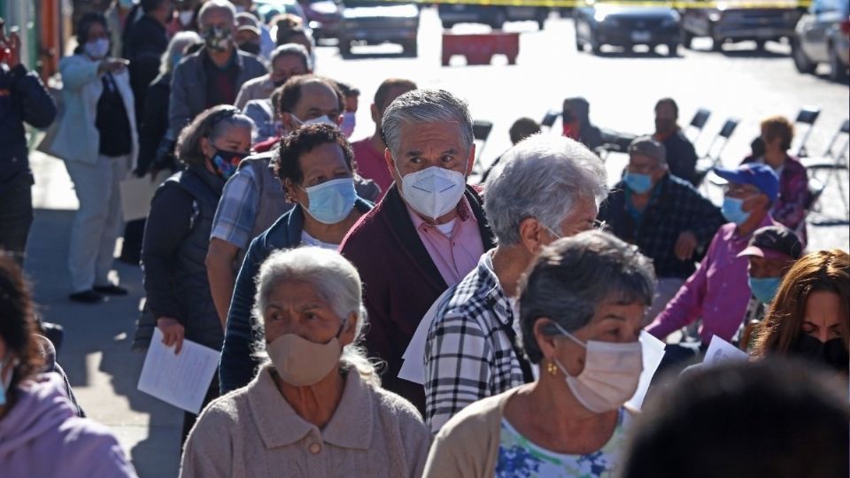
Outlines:
<svg viewBox="0 0 850 478"><path fill-rule="evenodd" d="M790 39L800 19L796 0L770 0L769 7L753 8L753 0L722 0L704 4L692 1L682 11L682 44L691 48L693 38L707 36L720 51L725 42L754 40L756 49L765 42Z"/></svg>

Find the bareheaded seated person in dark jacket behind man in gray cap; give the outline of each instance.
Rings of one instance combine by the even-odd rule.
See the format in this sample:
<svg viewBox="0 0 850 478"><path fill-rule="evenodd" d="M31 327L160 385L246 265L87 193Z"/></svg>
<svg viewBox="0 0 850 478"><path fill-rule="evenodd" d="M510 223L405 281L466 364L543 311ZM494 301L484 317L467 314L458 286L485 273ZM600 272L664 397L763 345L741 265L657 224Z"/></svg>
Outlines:
<svg viewBox="0 0 850 478"><path fill-rule="evenodd" d="M679 120L679 105L673 98L661 98L655 104L655 134L653 137L664 144L670 173L684 181L697 185L697 153L693 144L682 132Z"/></svg>

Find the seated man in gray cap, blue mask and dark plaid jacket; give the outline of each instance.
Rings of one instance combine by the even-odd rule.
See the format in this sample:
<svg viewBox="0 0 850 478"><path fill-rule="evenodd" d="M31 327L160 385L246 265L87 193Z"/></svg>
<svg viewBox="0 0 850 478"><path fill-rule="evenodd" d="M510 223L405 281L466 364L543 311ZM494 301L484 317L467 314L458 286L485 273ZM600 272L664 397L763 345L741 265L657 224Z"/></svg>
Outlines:
<svg viewBox="0 0 850 478"><path fill-rule="evenodd" d="M611 232L653 259L659 278L652 321L696 270L694 256L723 226L723 214L688 181L670 173L664 145L642 136L629 146L629 166L599 211Z"/></svg>

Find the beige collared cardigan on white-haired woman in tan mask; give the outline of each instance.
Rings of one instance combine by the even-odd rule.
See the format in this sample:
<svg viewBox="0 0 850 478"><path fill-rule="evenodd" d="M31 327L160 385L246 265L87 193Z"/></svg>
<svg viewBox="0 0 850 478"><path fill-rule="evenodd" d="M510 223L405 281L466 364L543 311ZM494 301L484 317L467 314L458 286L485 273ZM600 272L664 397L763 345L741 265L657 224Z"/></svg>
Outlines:
<svg viewBox="0 0 850 478"><path fill-rule="evenodd" d="M430 432L405 399L352 371L320 430L286 402L270 370L201 413L183 451L182 477L421 476Z"/></svg>

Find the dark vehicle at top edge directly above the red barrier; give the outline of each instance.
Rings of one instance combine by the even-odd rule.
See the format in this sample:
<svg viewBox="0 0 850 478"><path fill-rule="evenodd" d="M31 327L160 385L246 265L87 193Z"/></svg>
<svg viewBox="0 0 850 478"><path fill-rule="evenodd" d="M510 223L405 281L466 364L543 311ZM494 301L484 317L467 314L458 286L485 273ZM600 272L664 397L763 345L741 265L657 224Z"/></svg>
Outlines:
<svg viewBox="0 0 850 478"><path fill-rule="evenodd" d="M506 21L534 20L542 30L549 17L547 7L482 4L441 3L437 5L437 13L446 29L457 23L483 23L494 30L501 30Z"/></svg>

